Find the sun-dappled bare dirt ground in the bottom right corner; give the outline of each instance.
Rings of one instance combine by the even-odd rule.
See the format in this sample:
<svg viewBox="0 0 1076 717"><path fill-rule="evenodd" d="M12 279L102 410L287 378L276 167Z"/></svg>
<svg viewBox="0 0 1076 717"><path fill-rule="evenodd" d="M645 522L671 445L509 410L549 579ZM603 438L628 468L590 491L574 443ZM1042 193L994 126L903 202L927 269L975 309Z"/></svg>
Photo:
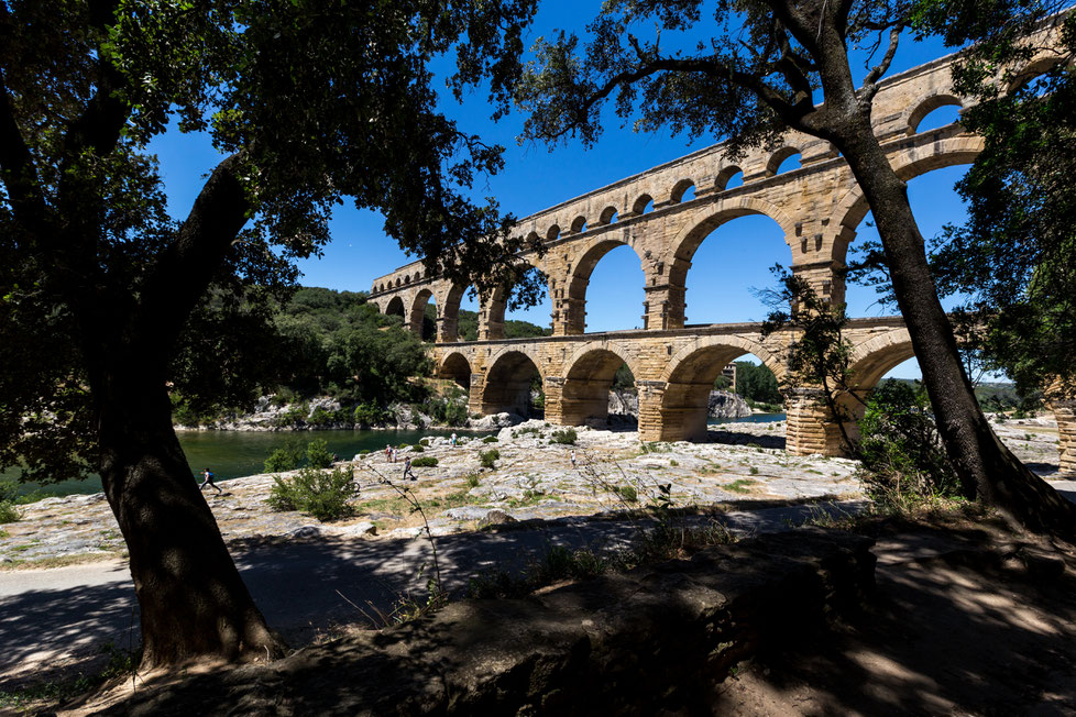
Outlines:
<svg viewBox="0 0 1076 717"><path fill-rule="evenodd" d="M876 599L809 643L764 655L727 681L714 712L765 695L760 714L1072 714L1076 574L1046 578L977 550L982 536L926 536L880 561ZM940 547L938 541L945 543ZM876 552L885 551L879 541Z"/></svg>

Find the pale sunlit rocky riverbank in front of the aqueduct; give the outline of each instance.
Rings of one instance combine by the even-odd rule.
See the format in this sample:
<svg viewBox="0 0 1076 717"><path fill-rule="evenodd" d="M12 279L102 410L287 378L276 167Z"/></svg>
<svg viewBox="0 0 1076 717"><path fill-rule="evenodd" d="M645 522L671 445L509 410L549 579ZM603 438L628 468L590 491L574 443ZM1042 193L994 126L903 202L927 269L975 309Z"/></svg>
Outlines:
<svg viewBox="0 0 1076 717"><path fill-rule="evenodd" d="M400 479L400 463L384 453L355 456L350 465L360 485L352 518L320 523L300 512L274 512L265 504L273 475L221 484L207 499L226 541L295 540L318 536L364 540L406 538L424 530L417 500L435 536L473 530L487 522L577 516L590 519L646 505L669 486L678 506L707 507L745 500L859 499L857 464L821 455L784 452L783 422L728 423L709 443L640 443L634 431L574 429L574 446L552 442L561 430L542 421L504 428L490 439L426 439L422 456L435 467L415 468L418 479ZM1045 418L1011 420L996 430L1045 477L1057 470L1057 429ZM486 442L487 441L487 442ZM493 468L480 454L496 449ZM575 465L571 454L575 452ZM286 475L286 474L284 474ZM406 496L404 493L406 492ZM0 565L43 566L121 555L122 537L102 494L47 498L20 508L22 519L0 530Z"/></svg>

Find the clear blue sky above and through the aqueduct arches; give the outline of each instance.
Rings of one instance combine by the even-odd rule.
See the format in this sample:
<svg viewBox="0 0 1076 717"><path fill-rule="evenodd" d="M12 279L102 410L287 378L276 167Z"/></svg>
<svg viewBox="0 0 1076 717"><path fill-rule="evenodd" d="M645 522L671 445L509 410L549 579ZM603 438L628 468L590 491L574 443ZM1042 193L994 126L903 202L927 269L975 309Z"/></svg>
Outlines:
<svg viewBox="0 0 1076 717"><path fill-rule="evenodd" d="M531 40L550 35L555 29L580 31L599 11L595 0L546 0L541 2ZM703 36L703 35L698 35ZM668 33L663 44L671 38ZM690 41L693 37L681 38ZM528 42L529 45L529 42ZM946 54L937 42L912 42L902 38L889 74L894 74ZM857 68L865 74L863 58ZM668 162L694 150L722 140L704 136L688 143L684 136L668 132L636 134L622 129L618 118L607 113L605 133L597 145L584 150L573 142L551 152L534 144L519 145L516 137L523 117L513 113L499 123L488 117L491 108L482 92L458 104L446 91L440 107L454 118L461 129L482 135L488 143L506 147L502 174L480 178L474 188L476 197L494 196L504 211L525 217L557 205L625 176ZM943 108L930 115L923 129L946 124L955 119L955 108ZM155 140L151 147L161 159L167 187L169 210L177 218L189 211L204 176L219 162L204 135L183 135L172 131ZM965 209L953 185L965 167L952 167L930 173L910 185L912 209L924 236L937 233L947 222L959 222ZM869 217L868 217L869 221ZM356 211L353 206L339 208L331 224L332 242L321 260L300 263L305 286L334 289L369 290L373 279L411 261L382 231L383 219L372 211ZM877 236L874 230L860 225L859 239ZM692 323L760 320L766 309L754 296L753 288L772 285L769 267L788 264L790 254L777 224L766 217L744 217L728 222L711 234L692 260L688 275L688 320ZM852 316L878 316L883 311L875 305L872 290L849 287L848 305ZM463 308L474 309L469 299ZM549 304L526 311L509 312L506 318L527 319L540 326L549 323ZM602 260L588 289L588 331L630 329L641 326L643 273L634 252L621 247ZM914 361L902 364L890 375L918 377Z"/></svg>

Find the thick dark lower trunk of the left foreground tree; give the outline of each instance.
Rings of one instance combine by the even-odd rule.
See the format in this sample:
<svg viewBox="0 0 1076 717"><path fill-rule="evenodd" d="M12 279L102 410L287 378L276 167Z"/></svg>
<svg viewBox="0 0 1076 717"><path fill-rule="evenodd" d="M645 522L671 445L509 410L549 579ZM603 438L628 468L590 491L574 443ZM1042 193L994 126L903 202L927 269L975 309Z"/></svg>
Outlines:
<svg viewBox="0 0 1076 717"><path fill-rule="evenodd" d="M179 446L164 380L132 364L92 388L101 482L142 611L142 665L281 657Z"/></svg>

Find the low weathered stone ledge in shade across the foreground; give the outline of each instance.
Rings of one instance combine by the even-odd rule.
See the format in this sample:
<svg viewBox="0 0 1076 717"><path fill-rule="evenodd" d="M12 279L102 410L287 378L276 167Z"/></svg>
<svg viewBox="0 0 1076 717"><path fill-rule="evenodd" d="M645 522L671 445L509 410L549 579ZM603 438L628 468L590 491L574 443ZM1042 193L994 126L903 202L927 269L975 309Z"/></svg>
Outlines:
<svg viewBox="0 0 1076 717"><path fill-rule="evenodd" d="M453 603L271 669L142 690L110 714L169 704L264 715L698 712L736 663L860 605L874 587L871 543L801 529L528 599Z"/></svg>

